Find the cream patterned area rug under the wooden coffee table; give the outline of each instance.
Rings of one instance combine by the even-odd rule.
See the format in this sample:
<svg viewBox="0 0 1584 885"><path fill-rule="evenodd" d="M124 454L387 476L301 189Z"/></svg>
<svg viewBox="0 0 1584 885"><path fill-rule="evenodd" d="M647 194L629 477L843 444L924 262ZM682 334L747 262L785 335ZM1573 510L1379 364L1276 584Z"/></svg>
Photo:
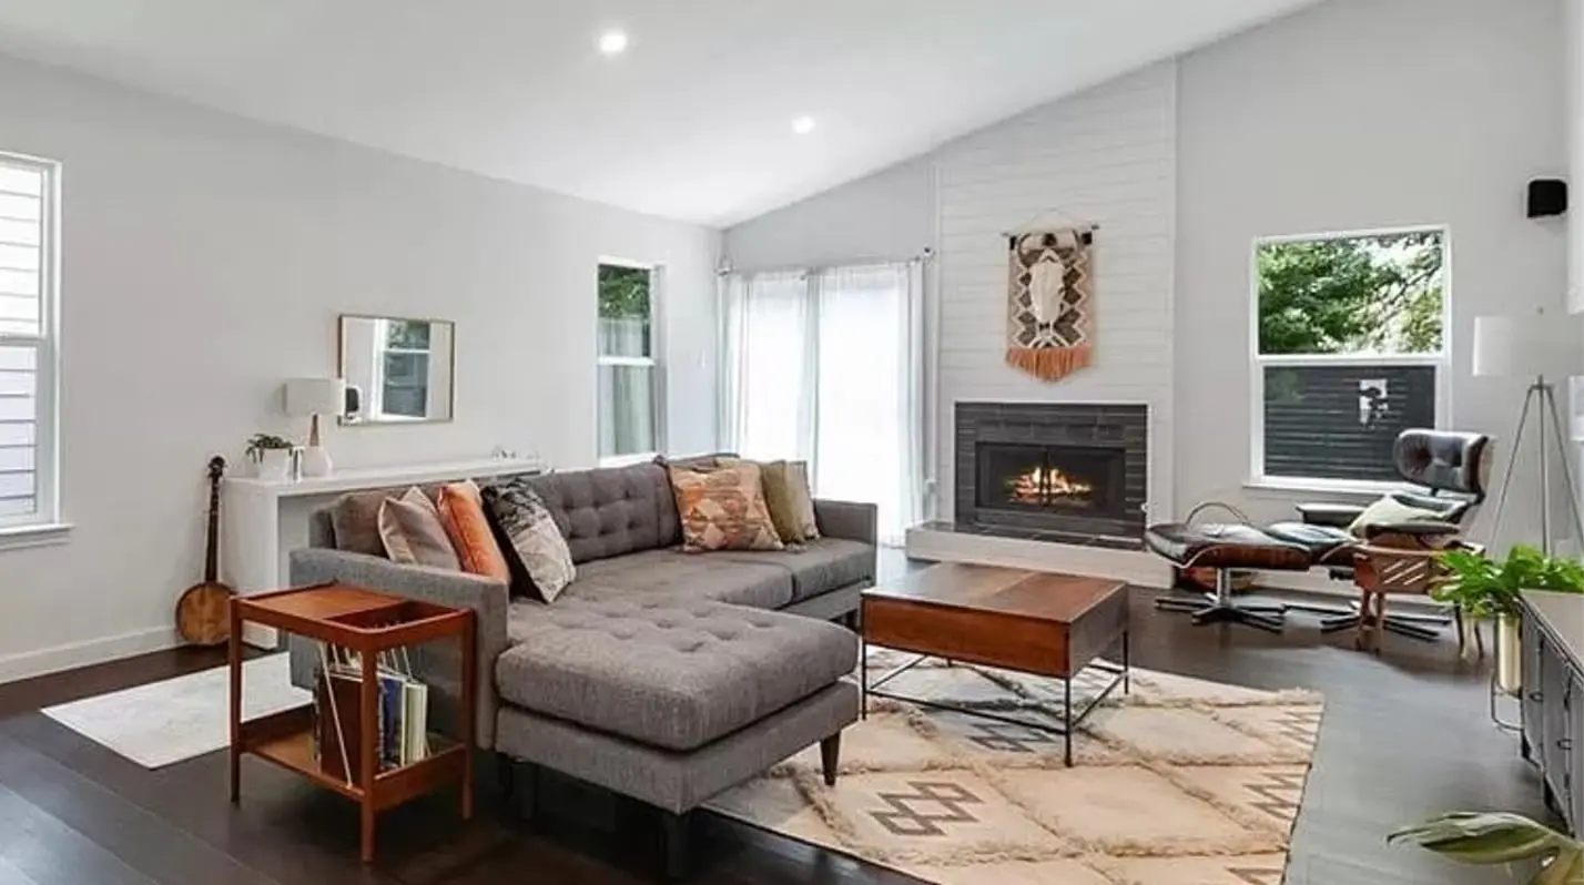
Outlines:
<svg viewBox="0 0 1584 885"><path fill-rule="evenodd" d="M871 674L906 662L871 651ZM1110 678L1074 681L1082 709ZM1060 716L1061 684L920 665L897 693ZM941 885L1280 885L1319 730L1321 698L1133 671L1061 736L871 700L827 788L819 749L710 807Z"/></svg>

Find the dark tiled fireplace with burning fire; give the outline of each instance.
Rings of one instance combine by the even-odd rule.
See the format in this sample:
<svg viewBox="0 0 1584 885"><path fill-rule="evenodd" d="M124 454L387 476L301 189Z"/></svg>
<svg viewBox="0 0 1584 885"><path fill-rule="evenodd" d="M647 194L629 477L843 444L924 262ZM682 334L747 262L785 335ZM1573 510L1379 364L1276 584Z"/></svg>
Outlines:
<svg viewBox="0 0 1584 885"><path fill-rule="evenodd" d="M1148 407L958 402L954 530L1136 549Z"/></svg>

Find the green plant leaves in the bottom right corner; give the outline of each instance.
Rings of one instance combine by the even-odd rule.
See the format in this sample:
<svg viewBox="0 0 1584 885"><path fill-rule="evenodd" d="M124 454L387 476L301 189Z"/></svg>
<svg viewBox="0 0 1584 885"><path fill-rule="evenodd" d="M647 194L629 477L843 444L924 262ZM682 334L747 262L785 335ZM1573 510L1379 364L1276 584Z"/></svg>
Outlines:
<svg viewBox="0 0 1584 885"><path fill-rule="evenodd" d="M1584 885L1584 842L1519 814L1459 811L1392 833L1389 844L1408 842L1457 863L1495 866L1540 860L1530 885Z"/></svg>

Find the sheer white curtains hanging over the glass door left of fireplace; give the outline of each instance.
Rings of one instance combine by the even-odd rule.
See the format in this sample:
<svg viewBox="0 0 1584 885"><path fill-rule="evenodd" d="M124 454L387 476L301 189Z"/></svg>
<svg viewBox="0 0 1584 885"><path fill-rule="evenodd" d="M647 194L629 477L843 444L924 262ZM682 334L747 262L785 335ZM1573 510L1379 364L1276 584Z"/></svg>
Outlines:
<svg viewBox="0 0 1584 885"><path fill-rule="evenodd" d="M808 461L814 494L876 503L901 545L922 518L922 313L917 261L730 277L725 445Z"/></svg>

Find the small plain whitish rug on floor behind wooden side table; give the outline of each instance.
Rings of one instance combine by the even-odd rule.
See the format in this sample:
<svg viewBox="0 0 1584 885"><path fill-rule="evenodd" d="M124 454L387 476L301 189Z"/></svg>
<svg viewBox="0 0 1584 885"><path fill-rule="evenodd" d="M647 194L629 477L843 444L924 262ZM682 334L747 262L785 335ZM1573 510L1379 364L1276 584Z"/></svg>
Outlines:
<svg viewBox="0 0 1584 885"><path fill-rule="evenodd" d="M307 692L291 684L285 654L242 663L242 719L309 700ZM230 746L228 701L227 668L215 667L46 708L44 716L144 768L162 768Z"/></svg>

